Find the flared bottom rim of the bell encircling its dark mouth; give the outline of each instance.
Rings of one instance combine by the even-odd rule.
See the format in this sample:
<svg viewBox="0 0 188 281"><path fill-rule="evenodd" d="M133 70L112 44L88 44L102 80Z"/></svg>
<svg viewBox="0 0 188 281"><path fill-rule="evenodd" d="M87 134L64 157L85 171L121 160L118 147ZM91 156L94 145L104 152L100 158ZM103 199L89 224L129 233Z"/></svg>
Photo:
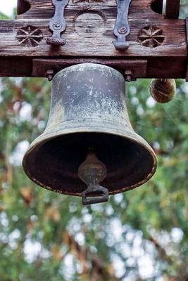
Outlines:
<svg viewBox="0 0 188 281"><path fill-rule="evenodd" d="M50 141L53 138L58 138L59 136L64 136L64 135L68 135L68 134L75 134L75 133L107 133L109 135L114 135L114 136L120 136L121 138L125 138L129 141L132 141L133 143L137 143L139 145L141 145L142 147L144 147L146 150L149 150L149 152L151 153L151 156L153 157L153 167L151 169L151 172L148 174L148 176L146 176L146 178L144 178L142 181L140 181L139 183L136 183L134 185L130 185L128 187L119 187L117 190L113 190L113 191L109 191L109 195L115 195L118 193L122 193L122 192L126 192L129 190L132 190L134 188L138 188L141 185L144 185L144 183L146 183L147 181L149 181L152 176L155 174L156 169L157 169L157 157L155 152L153 151L153 149L151 148L151 146L149 145L149 143L147 143L144 138L142 138L142 136L139 136L137 133L135 133L133 131L130 131L130 129L125 129L125 130L119 130L119 131L108 131L107 129L101 129L99 131L94 131L94 129L78 129L76 132L73 132L72 130L68 130L66 129L65 131L63 131L61 129L61 132L56 132L56 133L51 133L51 135L49 134L46 135L46 131L44 131L44 133L42 133L41 136L39 136L38 138L35 139L35 141L32 142L32 144L30 145L30 148L27 150L27 152L25 153L24 157L23 157L23 170L25 171L25 174L30 178L31 181L33 181L34 183L36 183L37 185L41 186L42 188L45 188L46 190L50 190L53 192L57 192L63 195L71 195L71 196L82 196L82 192L80 193L75 193L75 192L69 192L69 191L65 191L65 190L56 190L56 189L52 189L51 187L44 185L43 183L41 183L40 181L37 180L37 178L35 178L34 176L32 176L30 174L30 171L27 169L26 166L26 159L27 159L27 155L30 154L30 152L32 152L32 150L35 150L36 146L39 147L40 145L43 145L44 143ZM125 136L125 133L129 133L130 136ZM132 135L132 136L131 136ZM43 137L45 136L45 139L43 139ZM46 137L47 136L47 137ZM135 136L137 136L137 140L135 139ZM36 145L37 143L37 145ZM102 183L101 183L102 184ZM86 187L87 188L87 187Z"/></svg>

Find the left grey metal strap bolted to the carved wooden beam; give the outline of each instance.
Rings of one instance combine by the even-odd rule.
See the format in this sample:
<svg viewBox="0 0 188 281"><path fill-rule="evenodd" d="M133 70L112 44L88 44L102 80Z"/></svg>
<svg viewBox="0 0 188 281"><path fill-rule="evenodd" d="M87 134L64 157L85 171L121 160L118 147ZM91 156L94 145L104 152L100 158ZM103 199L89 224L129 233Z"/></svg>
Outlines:
<svg viewBox="0 0 188 281"><path fill-rule="evenodd" d="M61 33L65 31L66 23L64 18L65 6L69 0L52 0L55 7L55 15L49 22L49 29L53 32L52 37L46 38L46 44L54 46L63 46L66 40L61 38Z"/></svg>

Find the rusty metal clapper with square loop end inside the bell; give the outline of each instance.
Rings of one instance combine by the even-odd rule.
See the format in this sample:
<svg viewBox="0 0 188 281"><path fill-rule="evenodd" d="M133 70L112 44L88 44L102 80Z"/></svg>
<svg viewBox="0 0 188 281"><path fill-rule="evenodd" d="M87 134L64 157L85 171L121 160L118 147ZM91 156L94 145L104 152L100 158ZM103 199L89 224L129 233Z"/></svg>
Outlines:
<svg viewBox="0 0 188 281"><path fill-rule="evenodd" d="M107 176L106 166L96 157L94 152L88 153L78 169L78 176L87 184L87 190L82 192L84 205L108 201L108 189L99 185Z"/></svg>

